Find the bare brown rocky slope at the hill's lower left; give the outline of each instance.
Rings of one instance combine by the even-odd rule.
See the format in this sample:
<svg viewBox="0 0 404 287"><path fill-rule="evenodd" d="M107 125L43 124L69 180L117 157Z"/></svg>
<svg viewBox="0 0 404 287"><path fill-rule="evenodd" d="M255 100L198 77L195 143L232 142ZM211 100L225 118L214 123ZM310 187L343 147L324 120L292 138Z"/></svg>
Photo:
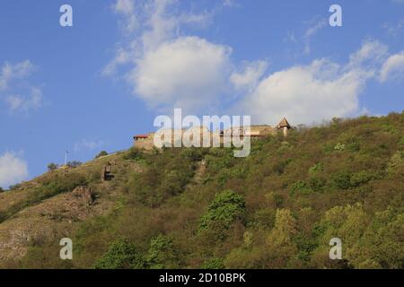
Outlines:
<svg viewBox="0 0 404 287"><path fill-rule="evenodd" d="M23 209L0 223L0 264L25 256L32 240L50 242L70 237L79 222L108 213L112 207L108 200L95 201L90 187L75 187L72 192Z"/></svg>

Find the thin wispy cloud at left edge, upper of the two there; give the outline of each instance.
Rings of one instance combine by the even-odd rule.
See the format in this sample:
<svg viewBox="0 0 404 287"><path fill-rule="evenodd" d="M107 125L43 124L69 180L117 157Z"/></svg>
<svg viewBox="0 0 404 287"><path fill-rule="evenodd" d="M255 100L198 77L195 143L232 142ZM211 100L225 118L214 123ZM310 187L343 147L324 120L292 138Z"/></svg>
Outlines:
<svg viewBox="0 0 404 287"><path fill-rule="evenodd" d="M17 64L5 63L0 73L0 98L12 112L28 112L39 109L42 105L42 91L39 87L28 83L35 66L30 60ZM17 92L20 91L20 92ZM22 91L22 92L21 92Z"/></svg>

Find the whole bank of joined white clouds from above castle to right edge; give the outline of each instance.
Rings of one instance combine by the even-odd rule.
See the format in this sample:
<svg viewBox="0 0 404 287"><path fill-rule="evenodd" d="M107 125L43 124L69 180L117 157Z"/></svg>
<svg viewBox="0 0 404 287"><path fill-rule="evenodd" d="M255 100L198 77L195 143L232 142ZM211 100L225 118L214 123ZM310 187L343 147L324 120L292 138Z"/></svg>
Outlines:
<svg viewBox="0 0 404 287"><path fill-rule="evenodd" d="M182 35L183 25L206 24L211 13L183 13L174 9L176 3L146 1L134 9L136 2L118 0L114 6L123 20L135 17L142 24L119 46L104 74L126 65L124 78L133 94L154 109L211 113L233 101L233 109L227 110L251 115L254 122L275 124L286 116L311 124L357 115L365 109L359 97L366 83L384 83L403 74L403 54L389 54L388 47L374 39L365 40L345 64L317 58L268 74L265 60L233 63L231 47ZM316 17L306 25L301 40L304 54L310 54L312 37L327 21ZM293 34L289 40L296 40Z"/></svg>

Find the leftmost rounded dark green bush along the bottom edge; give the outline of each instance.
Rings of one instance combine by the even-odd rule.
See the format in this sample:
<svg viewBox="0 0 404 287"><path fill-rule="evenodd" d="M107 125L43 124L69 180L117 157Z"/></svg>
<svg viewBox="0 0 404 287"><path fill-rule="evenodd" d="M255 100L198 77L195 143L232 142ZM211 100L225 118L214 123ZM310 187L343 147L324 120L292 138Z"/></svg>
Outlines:
<svg viewBox="0 0 404 287"><path fill-rule="evenodd" d="M142 269L145 268L145 259L139 248L118 239L113 242L108 251L97 260L95 269Z"/></svg>

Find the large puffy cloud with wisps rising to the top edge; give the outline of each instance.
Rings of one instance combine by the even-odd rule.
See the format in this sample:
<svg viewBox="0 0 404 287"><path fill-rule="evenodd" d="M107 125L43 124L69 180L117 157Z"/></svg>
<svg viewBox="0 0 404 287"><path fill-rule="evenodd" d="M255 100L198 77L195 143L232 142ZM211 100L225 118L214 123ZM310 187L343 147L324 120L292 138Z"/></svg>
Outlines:
<svg viewBox="0 0 404 287"><path fill-rule="evenodd" d="M103 74L127 65L127 83L151 107L202 108L215 100L230 74L231 48L198 37L181 37L183 25L206 26L212 13L184 13L177 1L154 0L133 8L133 1L114 5L124 19L142 19L142 26L117 48Z"/></svg>

